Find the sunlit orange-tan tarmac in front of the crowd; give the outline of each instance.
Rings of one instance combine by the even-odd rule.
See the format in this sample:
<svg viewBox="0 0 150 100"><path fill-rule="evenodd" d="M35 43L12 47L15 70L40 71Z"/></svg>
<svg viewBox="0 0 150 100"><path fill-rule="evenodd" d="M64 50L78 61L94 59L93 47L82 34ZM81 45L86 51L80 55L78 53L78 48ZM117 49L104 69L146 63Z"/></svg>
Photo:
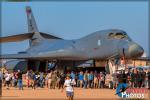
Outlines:
<svg viewBox="0 0 150 100"><path fill-rule="evenodd" d="M113 89L82 89L75 88L74 100L116 100L120 99L115 95L116 91ZM150 98L149 93L144 94L144 99ZM2 97L0 100L67 100L65 89L61 92L60 89L37 88L18 88L11 87L7 90L2 89ZM150 99L149 99L150 100Z"/></svg>

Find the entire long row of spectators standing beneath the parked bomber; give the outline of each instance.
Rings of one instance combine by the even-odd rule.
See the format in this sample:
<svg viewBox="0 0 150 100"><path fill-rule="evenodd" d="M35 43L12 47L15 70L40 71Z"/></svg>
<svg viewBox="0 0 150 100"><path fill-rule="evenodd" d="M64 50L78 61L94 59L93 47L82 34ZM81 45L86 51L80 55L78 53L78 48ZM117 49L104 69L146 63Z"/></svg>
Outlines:
<svg viewBox="0 0 150 100"><path fill-rule="evenodd" d="M10 87L18 87L23 90L23 87L36 89L49 88L49 89L62 89L66 77L70 77L73 81L73 86L78 88L105 88L106 73L97 71L71 71L60 73L56 70L50 70L47 73L34 72L32 70L22 73L20 70L10 73L8 70L0 73L0 78L3 80L3 85L6 89ZM125 82L130 87L135 88L150 88L150 71L148 70L129 70L128 72L121 72L113 74L112 83L116 88L119 82Z"/></svg>

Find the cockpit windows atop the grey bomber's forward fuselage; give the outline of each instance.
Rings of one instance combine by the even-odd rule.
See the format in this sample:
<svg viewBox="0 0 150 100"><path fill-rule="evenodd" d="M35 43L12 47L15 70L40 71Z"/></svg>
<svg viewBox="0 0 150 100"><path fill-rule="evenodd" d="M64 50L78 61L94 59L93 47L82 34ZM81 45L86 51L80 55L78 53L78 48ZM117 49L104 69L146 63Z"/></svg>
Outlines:
<svg viewBox="0 0 150 100"><path fill-rule="evenodd" d="M112 38L112 39L124 39L124 38L128 38L128 36L127 36L126 33L121 33L121 32L109 33L108 37Z"/></svg>

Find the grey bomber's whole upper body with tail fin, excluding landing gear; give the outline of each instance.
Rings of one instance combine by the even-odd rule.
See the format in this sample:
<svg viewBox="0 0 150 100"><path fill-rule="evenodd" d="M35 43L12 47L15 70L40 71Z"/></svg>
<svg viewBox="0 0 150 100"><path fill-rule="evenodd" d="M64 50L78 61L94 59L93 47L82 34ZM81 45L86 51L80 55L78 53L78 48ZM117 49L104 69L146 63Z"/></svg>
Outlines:
<svg viewBox="0 0 150 100"><path fill-rule="evenodd" d="M90 60L113 57L140 57L143 48L119 29L101 30L76 40L64 40L38 31L31 8L26 7L28 33L0 37L0 42L16 42L29 39L30 47L18 54L0 55L1 59L56 59Z"/></svg>

